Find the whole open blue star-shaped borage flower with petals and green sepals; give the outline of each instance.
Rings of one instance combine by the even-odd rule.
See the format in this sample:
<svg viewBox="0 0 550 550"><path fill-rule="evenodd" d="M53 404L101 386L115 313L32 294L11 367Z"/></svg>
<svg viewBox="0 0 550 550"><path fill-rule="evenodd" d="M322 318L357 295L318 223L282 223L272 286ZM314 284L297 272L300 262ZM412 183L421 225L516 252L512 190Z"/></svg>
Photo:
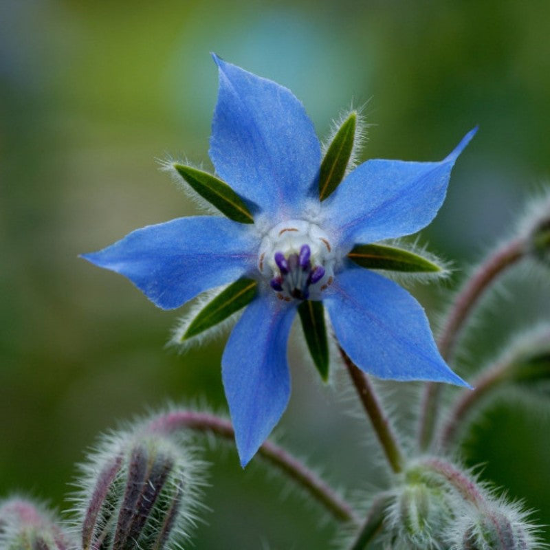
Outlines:
<svg viewBox="0 0 550 550"><path fill-rule="evenodd" d="M422 272L437 265L373 243L415 233L432 221L454 161L475 130L441 162L375 159L346 174L356 113L322 158L314 126L288 89L217 56L214 61L219 96L210 159L217 177L172 166L226 217L150 225L84 257L128 277L162 309L236 281L181 338L195 337L248 306L222 358L241 464L254 456L287 406L286 348L297 311L324 377L323 305L338 344L367 373L465 385L439 355L422 307L373 271Z"/></svg>

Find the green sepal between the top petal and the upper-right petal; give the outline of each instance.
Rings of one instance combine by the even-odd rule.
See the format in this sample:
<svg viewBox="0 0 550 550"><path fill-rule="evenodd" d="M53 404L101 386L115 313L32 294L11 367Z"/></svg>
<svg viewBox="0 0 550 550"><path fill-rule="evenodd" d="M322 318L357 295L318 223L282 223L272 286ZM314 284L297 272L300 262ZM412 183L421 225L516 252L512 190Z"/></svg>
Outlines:
<svg viewBox="0 0 550 550"><path fill-rule="evenodd" d="M322 159L319 172L319 199L324 201L340 185L348 166L353 142L355 141L357 113L353 111L342 122L342 126L333 137L325 158Z"/></svg>

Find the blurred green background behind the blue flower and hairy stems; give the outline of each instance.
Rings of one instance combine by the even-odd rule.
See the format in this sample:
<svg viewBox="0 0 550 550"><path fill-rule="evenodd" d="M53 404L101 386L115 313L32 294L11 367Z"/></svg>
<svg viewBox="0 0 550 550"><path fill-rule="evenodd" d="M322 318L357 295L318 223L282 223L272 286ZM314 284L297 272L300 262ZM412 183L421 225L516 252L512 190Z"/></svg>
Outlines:
<svg viewBox="0 0 550 550"><path fill-rule="evenodd" d="M209 52L291 88L321 137L342 109L364 105L364 159L441 159L479 124L421 235L457 268L443 287L412 288L435 319L549 175L549 25L543 0L2 0L0 496L17 489L63 508L98 432L168 400L225 410L223 338L186 355L165 349L181 312L155 309L77 257L197 212L155 159L210 167ZM515 272L503 289L467 335L464 375L550 317L550 278ZM297 340L280 439L336 485L369 494L380 478L370 428L349 415L347 381L322 387ZM418 387L391 394L403 417ZM539 405L501 399L463 450L550 524L550 421ZM210 511L195 547L330 547L335 525L261 465L242 472L227 446L203 456Z"/></svg>

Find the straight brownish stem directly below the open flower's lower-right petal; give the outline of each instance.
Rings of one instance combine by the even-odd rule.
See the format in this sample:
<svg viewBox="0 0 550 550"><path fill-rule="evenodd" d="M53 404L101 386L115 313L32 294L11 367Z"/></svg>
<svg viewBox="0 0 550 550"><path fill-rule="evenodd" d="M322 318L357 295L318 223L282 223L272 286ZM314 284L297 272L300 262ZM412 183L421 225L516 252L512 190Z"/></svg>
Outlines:
<svg viewBox="0 0 550 550"><path fill-rule="evenodd" d="M403 452L401 452L397 437L393 433L390 421L384 414L382 404L380 403L369 378L366 377L362 371L360 371L358 366L355 365L355 363L340 346L338 346L338 349L340 350L344 364L348 369L351 381L353 382L359 398L361 399L366 415L369 419L371 419L371 423L373 424L378 441L380 441L382 450L384 450L384 454L386 454L386 459L388 459L388 463L393 472L398 474L401 470L403 470Z"/></svg>

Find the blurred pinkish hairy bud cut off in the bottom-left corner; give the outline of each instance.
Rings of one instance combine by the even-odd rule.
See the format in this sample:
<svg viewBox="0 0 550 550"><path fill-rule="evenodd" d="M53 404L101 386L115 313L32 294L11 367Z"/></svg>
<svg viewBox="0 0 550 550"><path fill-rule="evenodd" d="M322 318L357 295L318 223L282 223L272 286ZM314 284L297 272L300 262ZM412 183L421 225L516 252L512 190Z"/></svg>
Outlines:
<svg viewBox="0 0 550 550"><path fill-rule="evenodd" d="M52 514L24 498L0 503L0 548L9 550L75 550Z"/></svg>

